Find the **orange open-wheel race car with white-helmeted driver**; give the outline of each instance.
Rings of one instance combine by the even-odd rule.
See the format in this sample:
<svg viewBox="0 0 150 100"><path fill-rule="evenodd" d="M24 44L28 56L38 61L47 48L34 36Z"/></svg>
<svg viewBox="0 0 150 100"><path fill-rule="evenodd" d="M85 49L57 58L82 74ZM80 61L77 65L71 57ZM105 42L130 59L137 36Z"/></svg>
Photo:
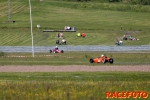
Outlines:
<svg viewBox="0 0 150 100"><path fill-rule="evenodd" d="M103 54L101 55L101 57L90 59L90 63L106 63L106 62L109 62L112 64L114 62L114 60L113 60L113 58L108 58L107 56L105 56Z"/></svg>

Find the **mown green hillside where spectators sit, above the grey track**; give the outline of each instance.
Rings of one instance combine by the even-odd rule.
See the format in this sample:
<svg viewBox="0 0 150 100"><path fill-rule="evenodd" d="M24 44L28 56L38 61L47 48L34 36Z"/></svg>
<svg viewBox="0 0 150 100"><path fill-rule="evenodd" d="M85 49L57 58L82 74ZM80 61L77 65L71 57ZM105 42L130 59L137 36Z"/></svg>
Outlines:
<svg viewBox="0 0 150 100"><path fill-rule="evenodd" d="M31 3L35 46L55 45L56 32L45 33L43 30L62 30L66 25L74 26L77 31L64 32L68 45L114 45L116 38L120 40L125 33L140 40L124 41L124 45L150 44L149 6L53 0L32 0ZM30 46L28 1L11 1L11 20L15 23L5 22L8 20L7 2L1 0L0 5L0 45ZM119 10L122 7L124 10ZM36 28L38 24L40 29ZM78 32L85 32L87 38L76 37Z"/></svg>

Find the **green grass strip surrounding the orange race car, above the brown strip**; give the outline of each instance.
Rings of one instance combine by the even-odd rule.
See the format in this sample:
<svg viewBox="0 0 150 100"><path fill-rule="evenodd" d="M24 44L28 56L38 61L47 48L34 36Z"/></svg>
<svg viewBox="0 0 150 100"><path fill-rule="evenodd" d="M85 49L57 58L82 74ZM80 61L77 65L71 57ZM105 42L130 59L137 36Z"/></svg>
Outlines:
<svg viewBox="0 0 150 100"><path fill-rule="evenodd" d="M114 59L114 64L90 63L90 58L105 54ZM0 65L148 65L149 52L65 52L63 54L35 53L33 58L30 53L5 53L0 57Z"/></svg>

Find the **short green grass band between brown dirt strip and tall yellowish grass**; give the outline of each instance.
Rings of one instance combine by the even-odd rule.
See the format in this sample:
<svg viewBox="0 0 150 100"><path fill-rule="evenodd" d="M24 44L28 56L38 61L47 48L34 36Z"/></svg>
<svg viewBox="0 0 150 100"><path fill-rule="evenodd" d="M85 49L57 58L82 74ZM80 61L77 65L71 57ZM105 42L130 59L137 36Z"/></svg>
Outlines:
<svg viewBox="0 0 150 100"><path fill-rule="evenodd" d="M149 81L150 73L148 72L34 72L34 73L0 73L1 81Z"/></svg>

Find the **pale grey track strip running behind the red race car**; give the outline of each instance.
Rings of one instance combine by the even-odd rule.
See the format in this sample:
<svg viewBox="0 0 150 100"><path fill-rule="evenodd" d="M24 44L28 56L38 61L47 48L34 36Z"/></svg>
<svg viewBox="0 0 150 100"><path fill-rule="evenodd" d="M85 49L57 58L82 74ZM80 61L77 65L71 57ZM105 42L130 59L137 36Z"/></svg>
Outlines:
<svg viewBox="0 0 150 100"><path fill-rule="evenodd" d="M34 46L34 52L49 52L55 46ZM150 45L143 46L103 46L103 45L58 45L64 51L108 51L108 52L138 52L150 51ZM3 52L32 52L32 46L0 46Z"/></svg>

